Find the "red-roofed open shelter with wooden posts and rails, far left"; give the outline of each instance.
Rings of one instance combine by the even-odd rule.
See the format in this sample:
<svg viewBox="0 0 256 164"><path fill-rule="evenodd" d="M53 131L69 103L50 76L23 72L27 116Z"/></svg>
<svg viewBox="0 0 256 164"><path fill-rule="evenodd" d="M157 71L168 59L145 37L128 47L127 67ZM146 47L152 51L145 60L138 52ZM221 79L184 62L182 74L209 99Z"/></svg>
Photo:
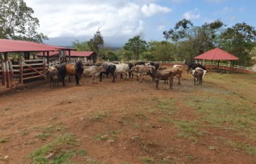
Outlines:
<svg viewBox="0 0 256 164"><path fill-rule="evenodd" d="M47 63L49 64L49 52L68 51L69 59L71 59L71 55L70 55L71 50L73 49L69 49L61 46L52 46L48 44L40 44L36 42L0 39L0 60L1 60L0 76L2 79L2 84L5 85L6 87L11 87L14 71L20 73L19 76L20 76L21 84L23 83L24 79L45 77L45 63L42 62L40 64L39 63L31 64L33 61L29 60L30 59L29 55L32 52L42 52L44 57L45 55L47 55L46 56ZM13 69L12 62L8 60L8 54L10 53L22 53L24 55L25 60L23 61L19 60L19 65L16 65L16 67L19 66L18 69L17 68ZM29 64L27 64L26 62L29 62ZM23 69L23 66L26 66L25 69ZM28 71L28 70L33 70L34 72L23 73L24 71Z"/></svg>

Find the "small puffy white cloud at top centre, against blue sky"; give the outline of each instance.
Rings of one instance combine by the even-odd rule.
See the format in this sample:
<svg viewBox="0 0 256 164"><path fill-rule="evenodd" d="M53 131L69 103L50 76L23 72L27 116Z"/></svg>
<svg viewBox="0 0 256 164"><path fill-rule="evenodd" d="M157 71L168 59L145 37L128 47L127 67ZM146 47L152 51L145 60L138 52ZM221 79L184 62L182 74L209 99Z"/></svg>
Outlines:
<svg viewBox="0 0 256 164"><path fill-rule="evenodd" d="M157 13L171 12L170 8L166 8L161 5L156 5L155 3L150 3L149 5L143 5L141 10L145 16L153 16Z"/></svg>

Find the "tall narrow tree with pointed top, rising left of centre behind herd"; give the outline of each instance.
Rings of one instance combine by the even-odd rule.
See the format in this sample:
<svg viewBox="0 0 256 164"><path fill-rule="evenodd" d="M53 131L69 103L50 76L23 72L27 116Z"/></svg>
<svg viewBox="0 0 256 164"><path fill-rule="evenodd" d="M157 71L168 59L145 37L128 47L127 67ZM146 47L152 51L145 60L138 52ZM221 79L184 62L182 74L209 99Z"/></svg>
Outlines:
<svg viewBox="0 0 256 164"><path fill-rule="evenodd" d="M88 42L88 46L92 51L94 51L95 53L97 53L97 55L99 55L98 57L100 59L103 58L103 54L101 53L100 49L103 49L104 38L103 36L101 36L101 31L99 31L99 29L97 30L96 33L94 33L94 37L90 39L90 41Z"/></svg>

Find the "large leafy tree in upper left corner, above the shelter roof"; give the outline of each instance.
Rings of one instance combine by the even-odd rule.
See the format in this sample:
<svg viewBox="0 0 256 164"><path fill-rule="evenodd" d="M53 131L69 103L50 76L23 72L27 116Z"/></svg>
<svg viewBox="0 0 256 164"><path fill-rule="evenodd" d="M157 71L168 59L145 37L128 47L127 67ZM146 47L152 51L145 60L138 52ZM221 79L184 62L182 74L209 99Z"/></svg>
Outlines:
<svg viewBox="0 0 256 164"><path fill-rule="evenodd" d="M39 20L23 0L0 0L0 38L42 42L48 39L36 32Z"/></svg>

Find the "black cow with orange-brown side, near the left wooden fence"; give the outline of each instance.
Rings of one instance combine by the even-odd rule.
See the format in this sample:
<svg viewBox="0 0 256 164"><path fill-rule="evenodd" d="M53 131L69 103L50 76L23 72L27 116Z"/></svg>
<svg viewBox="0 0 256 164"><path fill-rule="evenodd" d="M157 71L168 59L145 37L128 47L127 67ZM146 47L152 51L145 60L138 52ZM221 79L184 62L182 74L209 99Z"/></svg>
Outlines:
<svg viewBox="0 0 256 164"><path fill-rule="evenodd" d="M65 86L66 75L75 76L76 85L79 85L79 79L81 79L81 74L84 72L84 66L82 61L78 60L74 64L63 63L57 66L58 77L62 81L63 86Z"/></svg>

